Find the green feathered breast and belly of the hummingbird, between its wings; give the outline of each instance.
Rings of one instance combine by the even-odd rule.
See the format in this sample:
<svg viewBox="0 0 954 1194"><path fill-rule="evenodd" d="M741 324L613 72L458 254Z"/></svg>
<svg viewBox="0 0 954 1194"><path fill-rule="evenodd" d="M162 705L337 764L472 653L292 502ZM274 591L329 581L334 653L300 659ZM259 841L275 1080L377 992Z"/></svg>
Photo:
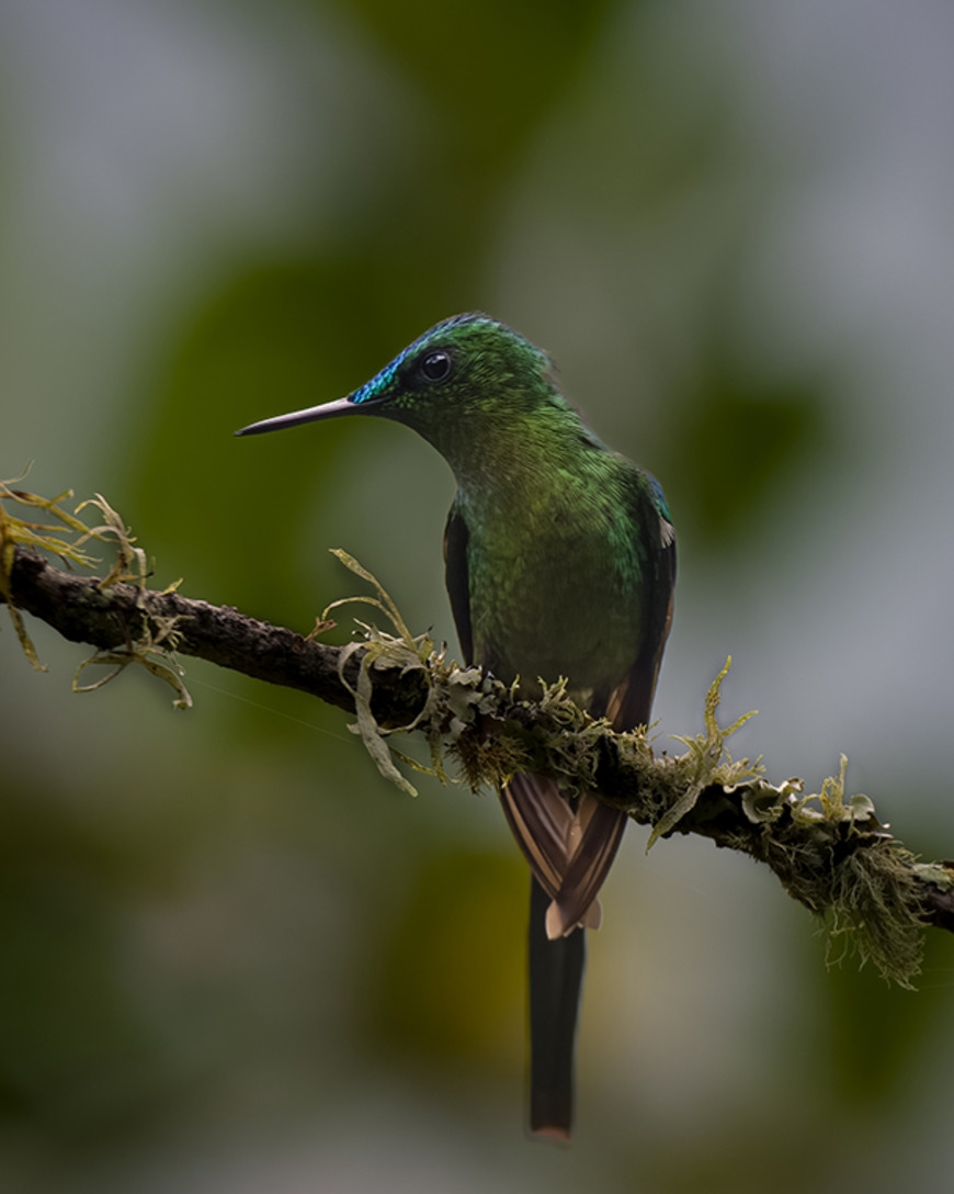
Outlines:
<svg viewBox="0 0 954 1194"><path fill-rule="evenodd" d="M624 475L636 466L600 456L599 469L562 468L552 485L458 497L476 659L504 682L565 677L583 704L625 678L644 638L645 561Z"/></svg>

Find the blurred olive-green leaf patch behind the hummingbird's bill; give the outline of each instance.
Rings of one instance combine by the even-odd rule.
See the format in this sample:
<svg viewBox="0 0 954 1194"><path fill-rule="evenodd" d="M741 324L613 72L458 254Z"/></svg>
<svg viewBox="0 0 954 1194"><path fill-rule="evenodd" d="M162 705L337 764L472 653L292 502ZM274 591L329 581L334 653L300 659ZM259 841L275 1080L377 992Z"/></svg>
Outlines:
<svg viewBox="0 0 954 1194"><path fill-rule="evenodd" d="M292 260L237 273L209 296L145 406L135 468L134 527L185 590L280 618L308 498L342 439L322 435L235 439L270 413L340 396L384 351L353 263ZM367 362L364 364L363 362ZM174 481L173 481L174 475ZM330 573L330 561L327 568ZM317 595L309 602L314 611ZM302 610L304 614L304 609Z"/></svg>

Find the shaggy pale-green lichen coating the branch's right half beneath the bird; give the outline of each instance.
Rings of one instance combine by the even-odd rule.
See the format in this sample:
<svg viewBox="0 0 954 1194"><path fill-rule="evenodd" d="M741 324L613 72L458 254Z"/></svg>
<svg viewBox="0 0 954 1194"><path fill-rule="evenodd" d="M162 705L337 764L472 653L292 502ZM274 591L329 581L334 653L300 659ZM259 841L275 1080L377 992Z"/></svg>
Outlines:
<svg viewBox="0 0 954 1194"><path fill-rule="evenodd" d="M360 566L348 566L371 580L378 591L372 603L397 626L384 590L365 570L358 571ZM518 771L543 771L568 798L596 790L650 825L649 847L675 832L696 832L743 850L767 863L786 891L822 919L830 959L854 950L862 964L871 961L887 979L911 986L922 956L923 885L949 882L950 872L941 866L925 870L881 826L868 796L847 795L844 757L838 774L809 794L797 777L770 783L760 759L733 759L727 740L752 714L726 727L718 722L731 659L710 687L704 732L676 738L686 752L670 756L656 752L646 727L613 733L607 721L590 718L569 698L565 681L541 684L540 698L525 702L518 685L508 688L476 667L458 667L427 636L411 638L407 628L398 636L373 627L363 632L363 641L354 645L368 652L360 673L366 684L359 682L357 694L358 732L382 773L405 790L410 784L391 751L382 747L397 731L382 730L370 712L373 671L379 667L413 666L426 675L425 707L399 728L425 734L433 774L444 778L456 769L477 790L500 788ZM600 790L611 744L618 769L632 777L625 795Z"/></svg>

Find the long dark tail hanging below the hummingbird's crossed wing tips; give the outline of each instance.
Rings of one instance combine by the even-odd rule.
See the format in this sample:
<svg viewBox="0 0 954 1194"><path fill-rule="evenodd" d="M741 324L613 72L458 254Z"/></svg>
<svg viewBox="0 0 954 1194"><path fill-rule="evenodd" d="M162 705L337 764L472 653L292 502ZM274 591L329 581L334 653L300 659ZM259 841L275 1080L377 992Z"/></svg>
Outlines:
<svg viewBox="0 0 954 1194"><path fill-rule="evenodd" d="M546 936L550 896L531 876L529 900L529 1126L570 1139L574 1119L576 1014L586 964L586 935Z"/></svg>

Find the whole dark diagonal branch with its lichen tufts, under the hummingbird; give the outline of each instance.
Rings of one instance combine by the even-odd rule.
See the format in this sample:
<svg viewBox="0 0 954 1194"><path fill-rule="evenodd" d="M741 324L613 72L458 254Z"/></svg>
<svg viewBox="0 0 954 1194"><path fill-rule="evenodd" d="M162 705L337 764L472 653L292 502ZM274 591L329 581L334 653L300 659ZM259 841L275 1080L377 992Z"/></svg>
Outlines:
<svg viewBox="0 0 954 1194"><path fill-rule="evenodd" d="M378 768L405 790L414 789L390 747L398 731L425 737L441 778L450 763L475 789L532 770L555 777L568 795L597 792L652 827L650 845L674 833L699 833L764 862L834 937L902 985L917 973L924 928L954 931L954 862L919 862L887 832L867 796L849 798L844 759L818 794L805 795L800 780L773 784L760 763L731 758L726 740L745 719L727 728L717 720L727 664L710 689L705 732L680 738L684 753L670 756L653 749L645 728L614 733L606 721L589 718L562 683L546 687L538 701L524 701L518 688L457 666L427 635L410 634L390 597L345 553L339 553L342 562L377 589L377 596L355 599L383 613L396 634L364 626L359 641L333 647L314 639L328 624L332 607L303 636L182 597L174 587L147 589L145 558L105 500L95 503L103 524L87 528L61 509L63 497L44 501L0 488L0 602L10 605L35 665L20 610L70 641L94 646L97 654L81 669L142 664L172 684L180 707L188 703L181 654L351 710ZM4 512L2 500L39 505L56 519L57 534ZM60 537L61 525L73 541ZM38 554L88 565L81 548L91 538L111 540L118 549L117 564L103 578L76 577Z"/></svg>

